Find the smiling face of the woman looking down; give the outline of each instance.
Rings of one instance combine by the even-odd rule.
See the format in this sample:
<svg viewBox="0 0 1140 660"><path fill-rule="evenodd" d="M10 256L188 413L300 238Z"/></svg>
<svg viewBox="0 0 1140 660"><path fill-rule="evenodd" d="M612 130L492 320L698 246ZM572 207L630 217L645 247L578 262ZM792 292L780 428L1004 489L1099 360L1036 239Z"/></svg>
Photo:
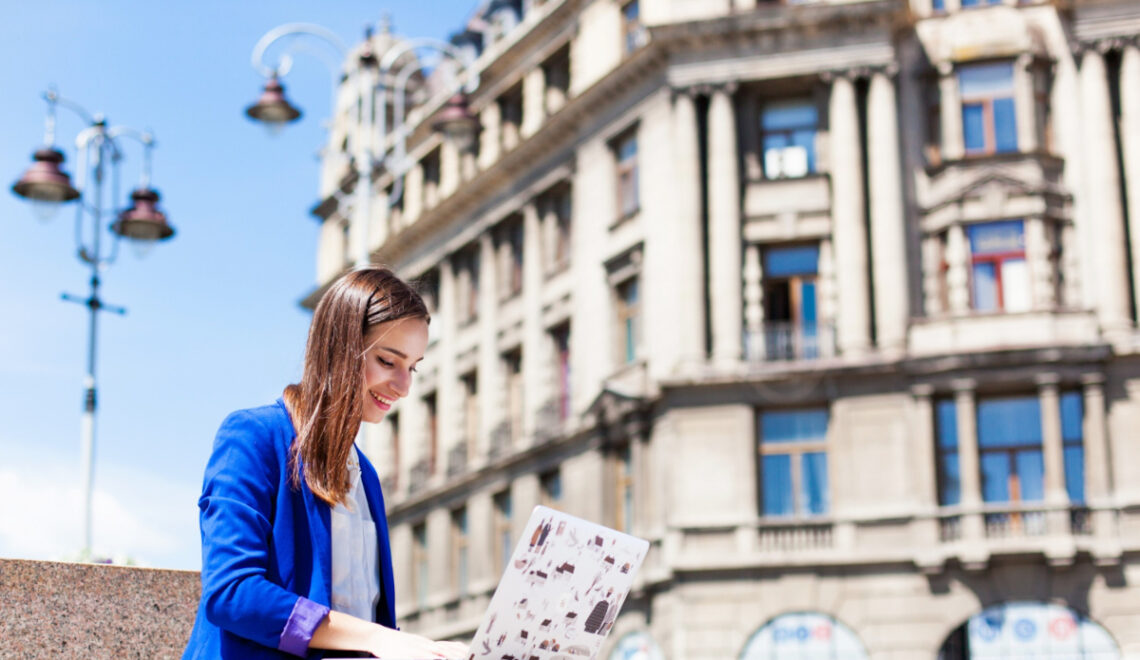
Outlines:
<svg viewBox="0 0 1140 660"><path fill-rule="evenodd" d="M364 421L384 418L408 396L412 374L427 349L427 321L401 318L374 326L364 337Z"/></svg>

